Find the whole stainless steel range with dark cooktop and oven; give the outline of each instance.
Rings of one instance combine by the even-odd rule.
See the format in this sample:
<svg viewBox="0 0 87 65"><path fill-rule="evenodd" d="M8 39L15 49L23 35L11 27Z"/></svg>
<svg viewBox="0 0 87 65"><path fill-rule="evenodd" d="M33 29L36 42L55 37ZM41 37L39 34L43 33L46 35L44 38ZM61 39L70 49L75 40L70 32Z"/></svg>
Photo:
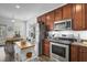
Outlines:
<svg viewBox="0 0 87 65"><path fill-rule="evenodd" d="M69 61L69 46L73 42L73 35L61 34L56 37L50 39L51 41L51 58L54 61L68 62Z"/></svg>

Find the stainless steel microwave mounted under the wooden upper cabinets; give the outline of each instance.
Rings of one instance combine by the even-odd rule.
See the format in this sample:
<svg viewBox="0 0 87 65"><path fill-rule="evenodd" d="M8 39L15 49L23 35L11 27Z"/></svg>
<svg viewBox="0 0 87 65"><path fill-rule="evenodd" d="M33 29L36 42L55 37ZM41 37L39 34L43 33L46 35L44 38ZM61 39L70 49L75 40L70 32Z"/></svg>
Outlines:
<svg viewBox="0 0 87 65"><path fill-rule="evenodd" d="M72 30L72 19L54 22L54 30Z"/></svg>

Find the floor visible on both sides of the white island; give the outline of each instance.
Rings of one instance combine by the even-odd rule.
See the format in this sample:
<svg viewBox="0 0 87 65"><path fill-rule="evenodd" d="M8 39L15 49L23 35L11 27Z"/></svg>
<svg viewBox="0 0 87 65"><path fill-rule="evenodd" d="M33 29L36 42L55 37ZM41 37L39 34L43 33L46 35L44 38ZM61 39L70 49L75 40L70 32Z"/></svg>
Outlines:
<svg viewBox="0 0 87 65"><path fill-rule="evenodd" d="M14 62L12 55L4 53L4 46L0 46L0 62ZM31 62L53 62L53 61L50 57L42 55Z"/></svg>

